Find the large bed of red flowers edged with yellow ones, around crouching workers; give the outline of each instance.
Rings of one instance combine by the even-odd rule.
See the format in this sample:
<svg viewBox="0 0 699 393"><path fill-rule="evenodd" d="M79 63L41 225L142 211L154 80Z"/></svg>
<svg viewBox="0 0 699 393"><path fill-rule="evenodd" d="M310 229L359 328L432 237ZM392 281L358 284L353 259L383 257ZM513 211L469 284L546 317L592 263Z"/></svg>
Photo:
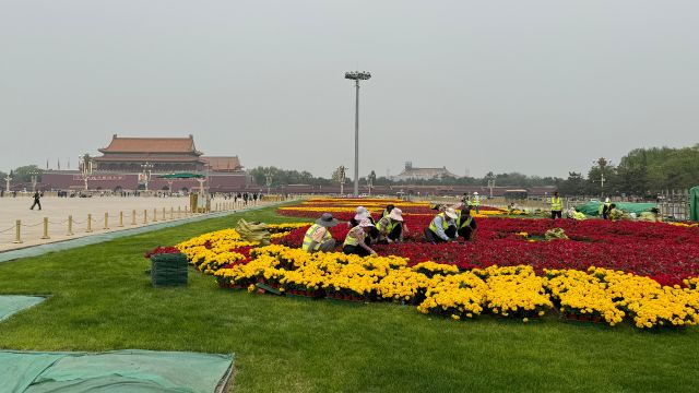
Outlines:
<svg viewBox="0 0 699 393"><path fill-rule="evenodd" d="M351 202L341 207L367 205L367 200ZM386 203L376 204L382 210ZM408 209L406 242L372 246L383 257L307 253L300 243L309 223L273 226L275 243L266 247L225 229L176 248L222 287L254 290L264 284L310 298L392 301L455 320L491 314L530 321L556 310L568 319L629 321L641 329L699 323L696 226L482 217L475 240L433 245L422 238L422 228L436 212L417 204L404 212ZM341 242L347 230L341 224L331 234ZM545 241L547 233L568 239Z"/></svg>

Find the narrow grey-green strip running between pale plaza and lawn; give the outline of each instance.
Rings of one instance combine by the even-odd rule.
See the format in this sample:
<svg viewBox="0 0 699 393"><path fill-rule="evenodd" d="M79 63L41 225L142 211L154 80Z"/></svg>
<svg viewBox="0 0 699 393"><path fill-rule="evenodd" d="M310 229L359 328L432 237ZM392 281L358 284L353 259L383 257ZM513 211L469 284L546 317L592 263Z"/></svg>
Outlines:
<svg viewBox="0 0 699 393"><path fill-rule="evenodd" d="M218 218L218 217L224 217L232 214L252 212L256 210L261 210L266 207L274 207L287 202L289 201L275 202L275 203L265 204L263 206L252 206L252 207L246 207L246 209L227 211L227 212L209 213L204 215L179 218L179 219L166 222L166 223L152 224L152 225L142 226L138 228L114 230L106 234L97 234L97 235L85 236L76 239L60 240L60 241L55 241L55 242L45 243L45 245L28 246L22 249L8 250L8 251L0 252L0 263L17 260L21 258L38 257L49 252L70 250L70 249L74 249L83 246L97 245L100 242L119 239L127 236L146 234L154 230L170 228L170 227L183 225L183 224L197 223L204 219Z"/></svg>

